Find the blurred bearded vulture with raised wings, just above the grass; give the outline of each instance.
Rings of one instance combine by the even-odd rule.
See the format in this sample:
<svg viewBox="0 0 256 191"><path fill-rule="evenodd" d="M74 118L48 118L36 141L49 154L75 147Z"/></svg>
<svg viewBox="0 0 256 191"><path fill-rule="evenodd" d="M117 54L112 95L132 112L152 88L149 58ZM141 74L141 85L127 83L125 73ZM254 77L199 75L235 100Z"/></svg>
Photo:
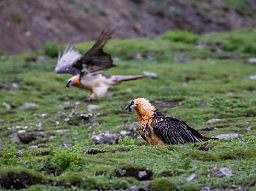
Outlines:
<svg viewBox="0 0 256 191"><path fill-rule="evenodd" d="M114 31L102 32L95 44L83 55L73 46L67 45L61 56L59 51L58 63L54 71L56 73L72 74L67 80L66 87L75 86L89 91L86 100L93 100L103 97L107 89L117 85L121 81L135 80L143 75L122 76L122 75L103 75L102 71L115 67L111 55L103 51L103 46L112 37Z"/></svg>

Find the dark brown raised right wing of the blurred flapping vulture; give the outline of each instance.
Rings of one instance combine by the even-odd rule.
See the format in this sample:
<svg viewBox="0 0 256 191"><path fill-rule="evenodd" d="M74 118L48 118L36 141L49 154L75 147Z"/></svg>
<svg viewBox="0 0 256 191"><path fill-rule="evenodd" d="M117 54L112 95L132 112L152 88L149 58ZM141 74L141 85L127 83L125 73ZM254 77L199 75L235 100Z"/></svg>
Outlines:
<svg viewBox="0 0 256 191"><path fill-rule="evenodd" d="M105 53L102 49L107 41L112 38L114 32L114 30L101 32L93 47L73 63L73 67L81 70L83 74L100 73L101 71L115 67L116 65L113 64L111 55Z"/></svg>

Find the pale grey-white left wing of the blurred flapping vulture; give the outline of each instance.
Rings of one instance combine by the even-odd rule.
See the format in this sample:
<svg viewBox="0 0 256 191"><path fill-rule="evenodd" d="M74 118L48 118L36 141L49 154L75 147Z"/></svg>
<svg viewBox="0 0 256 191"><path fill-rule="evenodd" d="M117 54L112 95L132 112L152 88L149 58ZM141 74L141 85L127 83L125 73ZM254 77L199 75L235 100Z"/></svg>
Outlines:
<svg viewBox="0 0 256 191"><path fill-rule="evenodd" d="M79 58L81 58L81 56L82 55L75 47L67 45L62 56L61 49L59 50L58 62L54 71L56 73L67 73L72 75L80 74L79 69L73 67L72 65Z"/></svg>

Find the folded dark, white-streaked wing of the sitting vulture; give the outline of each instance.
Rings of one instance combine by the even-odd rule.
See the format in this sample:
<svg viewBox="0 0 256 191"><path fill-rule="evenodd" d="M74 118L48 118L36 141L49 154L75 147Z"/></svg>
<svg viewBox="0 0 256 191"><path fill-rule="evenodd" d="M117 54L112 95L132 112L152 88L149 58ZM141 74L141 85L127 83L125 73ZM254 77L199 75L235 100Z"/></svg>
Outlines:
<svg viewBox="0 0 256 191"><path fill-rule="evenodd" d="M155 118L152 130L166 144L186 144L188 142L202 142L204 136L189 127L183 121L174 117Z"/></svg>

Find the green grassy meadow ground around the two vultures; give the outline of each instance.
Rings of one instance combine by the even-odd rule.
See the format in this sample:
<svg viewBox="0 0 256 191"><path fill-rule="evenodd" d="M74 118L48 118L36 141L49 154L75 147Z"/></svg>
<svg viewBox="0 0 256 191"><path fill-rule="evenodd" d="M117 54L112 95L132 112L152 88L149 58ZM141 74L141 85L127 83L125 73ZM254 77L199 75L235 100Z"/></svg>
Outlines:
<svg viewBox="0 0 256 191"><path fill-rule="evenodd" d="M196 46L196 41L201 42L202 48ZM54 73L56 58L26 61L27 57L42 55L42 51L2 56L0 118L4 122L0 123L0 185L28 190L147 187L147 182L138 178L117 177L118 170L124 175L133 166L139 171L152 170L151 190L168 190L166 186L174 184L172 188L178 190L200 190L205 186L220 190L245 186L244 189L253 190L256 81L249 76L256 74L256 65L246 61L256 55L255 41L253 29L202 36L175 31L156 38L111 40L105 51L120 61L105 74L136 75L146 70L157 73L158 79L123 82L90 103L80 101L87 92L64 88L70 75ZM221 44L222 51L215 51L215 46L219 46L215 43ZM77 46L85 51L90 45L91 42ZM136 53L145 58L134 60ZM178 62L182 57L190 61ZM212 129L201 130L203 135L240 133L243 138L149 146L137 140L136 133L131 137L134 141L126 141L126 146L94 145L90 139L93 132L120 133L137 127L135 112L126 112L125 106L138 97L159 101L153 104L195 129ZM3 102L12 109L5 108ZM39 108L19 109L26 102L36 103ZM80 103L58 107L64 102ZM102 108L89 112L90 104ZM96 117L77 124L81 112ZM220 121L207 122L212 118ZM89 128L94 122L99 124ZM38 148L28 149L31 145ZM89 148L101 153L86 154ZM213 167L229 168L235 176L211 177ZM173 171L172 175L162 177L166 171ZM198 178L188 183L186 178L192 173ZM30 187L31 184L34 185Z"/></svg>

